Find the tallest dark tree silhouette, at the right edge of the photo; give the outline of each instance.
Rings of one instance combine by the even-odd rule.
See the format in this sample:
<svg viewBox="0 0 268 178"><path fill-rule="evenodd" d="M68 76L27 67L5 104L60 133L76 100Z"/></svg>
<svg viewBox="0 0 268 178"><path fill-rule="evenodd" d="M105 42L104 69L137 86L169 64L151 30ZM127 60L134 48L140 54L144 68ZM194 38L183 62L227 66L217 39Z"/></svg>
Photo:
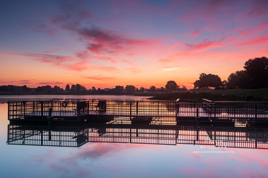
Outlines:
<svg viewBox="0 0 268 178"><path fill-rule="evenodd" d="M245 62L244 69L251 77L251 85L268 86L268 58L249 59Z"/></svg>

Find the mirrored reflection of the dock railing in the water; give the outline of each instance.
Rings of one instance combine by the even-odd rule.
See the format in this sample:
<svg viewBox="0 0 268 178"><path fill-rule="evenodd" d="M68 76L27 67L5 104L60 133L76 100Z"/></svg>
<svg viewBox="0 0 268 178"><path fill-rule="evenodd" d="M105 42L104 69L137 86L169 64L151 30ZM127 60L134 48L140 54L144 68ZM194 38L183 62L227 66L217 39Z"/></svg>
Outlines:
<svg viewBox="0 0 268 178"><path fill-rule="evenodd" d="M79 147L87 142L113 142L268 149L267 131L265 128L152 124L9 124L7 143Z"/></svg>

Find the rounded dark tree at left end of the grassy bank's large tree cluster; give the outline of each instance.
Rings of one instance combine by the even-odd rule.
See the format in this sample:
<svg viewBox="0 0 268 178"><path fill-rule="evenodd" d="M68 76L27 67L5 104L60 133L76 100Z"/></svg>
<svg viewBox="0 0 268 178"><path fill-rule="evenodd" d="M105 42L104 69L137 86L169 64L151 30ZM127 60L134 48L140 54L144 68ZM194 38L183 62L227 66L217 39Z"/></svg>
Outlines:
<svg viewBox="0 0 268 178"><path fill-rule="evenodd" d="M202 73L199 80L194 83L195 88L219 88L222 85L221 78L218 75Z"/></svg>

